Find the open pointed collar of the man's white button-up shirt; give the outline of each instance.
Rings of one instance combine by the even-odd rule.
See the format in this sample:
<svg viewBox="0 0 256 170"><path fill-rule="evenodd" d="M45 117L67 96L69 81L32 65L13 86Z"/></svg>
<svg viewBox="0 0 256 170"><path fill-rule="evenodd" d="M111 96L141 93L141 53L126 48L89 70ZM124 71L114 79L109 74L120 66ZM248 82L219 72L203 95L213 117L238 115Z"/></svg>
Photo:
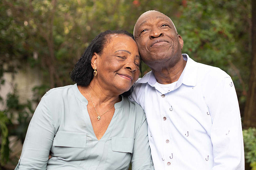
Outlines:
<svg viewBox="0 0 256 170"><path fill-rule="evenodd" d="M187 54L182 54L183 59L187 60L186 66L184 70L182 71L182 74L180 75L177 86L175 86L175 89L177 89L182 83L187 86L196 86L196 80L197 80L197 62L195 62L193 59L189 58ZM154 86L156 83L156 78L152 71L145 74L142 78L137 80L137 83L148 83L150 86Z"/></svg>

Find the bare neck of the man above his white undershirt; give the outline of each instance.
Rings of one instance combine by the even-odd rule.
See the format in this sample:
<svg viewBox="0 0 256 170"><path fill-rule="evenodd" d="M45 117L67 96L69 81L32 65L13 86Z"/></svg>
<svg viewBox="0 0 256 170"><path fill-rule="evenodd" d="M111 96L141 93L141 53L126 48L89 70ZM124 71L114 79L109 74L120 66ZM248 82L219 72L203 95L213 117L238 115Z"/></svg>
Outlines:
<svg viewBox="0 0 256 170"><path fill-rule="evenodd" d="M170 63L168 65L159 65L157 69L151 69L158 83L170 84L179 79L182 71L186 66L186 63L187 62L183 59L183 56L181 55L180 59L175 64Z"/></svg>

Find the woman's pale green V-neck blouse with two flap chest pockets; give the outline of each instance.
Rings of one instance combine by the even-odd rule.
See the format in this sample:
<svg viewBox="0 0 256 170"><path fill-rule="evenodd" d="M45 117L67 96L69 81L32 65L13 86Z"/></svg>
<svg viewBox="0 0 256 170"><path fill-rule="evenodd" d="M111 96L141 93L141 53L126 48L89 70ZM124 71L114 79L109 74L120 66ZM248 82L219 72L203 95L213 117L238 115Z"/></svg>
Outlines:
<svg viewBox="0 0 256 170"><path fill-rule="evenodd" d="M103 137L94 134L77 84L49 90L30 121L15 170L154 169L143 109L122 98ZM52 158L48 160L48 155Z"/></svg>

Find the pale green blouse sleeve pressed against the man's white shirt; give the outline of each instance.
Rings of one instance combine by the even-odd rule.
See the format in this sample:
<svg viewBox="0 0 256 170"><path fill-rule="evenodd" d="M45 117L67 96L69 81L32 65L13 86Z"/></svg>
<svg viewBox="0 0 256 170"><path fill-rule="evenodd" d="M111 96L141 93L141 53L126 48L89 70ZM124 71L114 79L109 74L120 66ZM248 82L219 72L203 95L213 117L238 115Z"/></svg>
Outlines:
<svg viewBox="0 0 256 170"><path fill-rule="evenodd" d="M141 112L144 112L141 109ZM133 145L132 170L154 169L151 150L148 143L146 116L142 117L141 125L138 128Z"/></svg>

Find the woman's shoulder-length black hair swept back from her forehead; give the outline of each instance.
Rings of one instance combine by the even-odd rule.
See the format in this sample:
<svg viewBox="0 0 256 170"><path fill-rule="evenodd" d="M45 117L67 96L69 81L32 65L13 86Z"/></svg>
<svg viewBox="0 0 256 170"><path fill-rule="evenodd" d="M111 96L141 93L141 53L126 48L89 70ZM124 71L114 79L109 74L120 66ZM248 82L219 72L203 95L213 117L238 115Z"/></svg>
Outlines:
<svg viewBox="0 0 256 170"><path fill-rule="evenodd" d="M108 40L110 40L110 35L112 34L123 34L131 37L134 40L134 37L131 33L125 30L107 30L98 34L89 44L89 46L84 51L82 57L78 60L74 69L69 73L69 77L73 82L76 82L77 85L86 87L90 84L93 79L93 68L91 67L91 59L93 53L101 54L103 51L104 45ZM141 71L141 65L140 65ZM124 97L128 97L133 91L133 87L130 90L124 92Z"/></svg>

